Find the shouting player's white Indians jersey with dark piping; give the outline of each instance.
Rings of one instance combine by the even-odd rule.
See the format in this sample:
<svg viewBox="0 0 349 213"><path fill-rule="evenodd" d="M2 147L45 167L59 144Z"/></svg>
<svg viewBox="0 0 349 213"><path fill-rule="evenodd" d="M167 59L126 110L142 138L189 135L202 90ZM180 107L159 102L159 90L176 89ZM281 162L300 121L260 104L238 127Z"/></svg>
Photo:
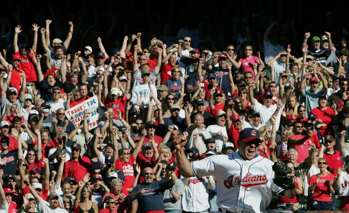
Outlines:
<svg viewBox="0 0 349 213"><path fill-rule="evenodd" d="M273 164L258 154L244 160L234 152L194 161L191 167L196 177L216 176L218 207L231 212L265 212L272 191L283 191L273 181Z"/></svg>

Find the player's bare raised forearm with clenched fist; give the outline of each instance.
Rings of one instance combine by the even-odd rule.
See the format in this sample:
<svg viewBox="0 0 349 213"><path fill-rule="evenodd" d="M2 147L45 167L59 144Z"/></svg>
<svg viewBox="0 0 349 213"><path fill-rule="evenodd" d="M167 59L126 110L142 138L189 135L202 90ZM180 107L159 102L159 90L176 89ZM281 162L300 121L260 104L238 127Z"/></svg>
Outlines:
<svg viewBox="0 0 349 213"><path fill-rule="evenodd" d="M183 135L178 135L173 140L173 145L176 147L176 158L177 158L177 166L180 174L183 177L194 177L194 173L191 169L191 164L184 153L184 145L187 143L187 138Z"/></svg>

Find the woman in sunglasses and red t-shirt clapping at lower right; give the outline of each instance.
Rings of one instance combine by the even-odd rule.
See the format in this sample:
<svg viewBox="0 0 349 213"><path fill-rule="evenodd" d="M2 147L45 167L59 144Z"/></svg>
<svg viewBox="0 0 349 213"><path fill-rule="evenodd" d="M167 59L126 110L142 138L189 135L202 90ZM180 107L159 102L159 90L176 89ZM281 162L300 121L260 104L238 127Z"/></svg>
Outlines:
<svg viewBox="0 0 349 213"><path fill-rule="evenodd" d="M311 210L333 210L331 194L335 193L333 188L334 176L327 173L327 160L325 158L318 159L320 174L310 177L308 183L308 193L313 193L310 200Z"/></svg>

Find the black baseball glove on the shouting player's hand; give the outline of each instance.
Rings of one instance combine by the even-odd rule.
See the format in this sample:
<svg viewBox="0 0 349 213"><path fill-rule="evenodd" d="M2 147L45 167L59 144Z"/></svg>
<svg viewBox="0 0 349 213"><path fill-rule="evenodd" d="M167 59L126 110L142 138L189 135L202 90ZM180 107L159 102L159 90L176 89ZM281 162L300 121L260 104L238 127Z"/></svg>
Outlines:
<svg viewBox="0 0 349 213"><path fill-rule="evenodd" d="M273 178L273 181L276 185L284 190L295 188L295 182L293 181L292 176L287 176L292 173L292 170L289 167L282 162L275 162L272 168L275 172L275 178Z"/></svg>

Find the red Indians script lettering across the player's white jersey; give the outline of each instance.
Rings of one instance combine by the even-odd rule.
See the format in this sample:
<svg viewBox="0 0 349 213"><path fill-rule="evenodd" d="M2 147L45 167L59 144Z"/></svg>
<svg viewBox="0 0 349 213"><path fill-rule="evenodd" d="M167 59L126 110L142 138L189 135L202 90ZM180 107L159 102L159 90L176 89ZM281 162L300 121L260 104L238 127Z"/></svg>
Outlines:
<svg viewBox="0 0 349 213"><path fill-rule="evenodd" d="M238 185L248 188L255 187L259 185L265 185L268 183L267 176L263 175L252 175L251 173L247 173L245 177L240 180L240 176L236 176L236 174L229 175L227 180L224 180L224 186L227 189L231 187L237 187Z"/></svg>

